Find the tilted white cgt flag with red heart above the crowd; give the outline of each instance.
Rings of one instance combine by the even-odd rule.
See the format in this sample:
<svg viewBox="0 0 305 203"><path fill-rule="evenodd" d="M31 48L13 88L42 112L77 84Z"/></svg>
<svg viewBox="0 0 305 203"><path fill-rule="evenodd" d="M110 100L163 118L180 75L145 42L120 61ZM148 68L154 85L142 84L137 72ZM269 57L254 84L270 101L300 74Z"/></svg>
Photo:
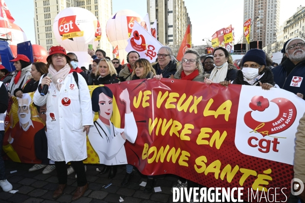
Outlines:
<svg viewBox="0 0 305 203"><path fill-rule="evenodd" d="M157 59L157 52L163 46L156 38L148 33L137 21L134 22L133 30L128 44L127 52L137 51L141 59L147 59L153 63Z"/></svg>

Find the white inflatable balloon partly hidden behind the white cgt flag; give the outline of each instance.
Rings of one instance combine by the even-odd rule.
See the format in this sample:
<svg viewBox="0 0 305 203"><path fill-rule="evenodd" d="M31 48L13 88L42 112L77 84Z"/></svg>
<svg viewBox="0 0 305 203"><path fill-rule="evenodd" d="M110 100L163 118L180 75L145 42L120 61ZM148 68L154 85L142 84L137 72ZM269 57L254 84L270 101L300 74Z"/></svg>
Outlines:
<svg viewBox="0 0 305 203"><path fill-rule="evenodd" d="M113 47L117 46L119 59L120 61L124 59L125 63L127 63L125 48L135 20L140 22L141 16L131 10L120 10L107 21L106 25L107 38Z"/></svg>

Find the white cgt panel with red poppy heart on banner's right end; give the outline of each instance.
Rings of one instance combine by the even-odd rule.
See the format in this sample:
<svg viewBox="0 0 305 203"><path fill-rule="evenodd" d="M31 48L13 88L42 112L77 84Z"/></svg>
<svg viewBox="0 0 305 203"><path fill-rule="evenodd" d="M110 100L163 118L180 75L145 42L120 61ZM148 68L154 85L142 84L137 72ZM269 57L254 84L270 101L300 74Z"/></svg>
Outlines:
<svg viewBox="0 0 305 203"><path fill-rule="evenodd" d="M303 112L297 109L300 102L292 103L289 97L278 97L270 92L250 90L242 86L236 122L235 144L237 149L254 157L293 165L295 132ZM249 89L247 91L247 89ZM291 95L291 97L297 97ZM296 98L296 101L299 101ZM285 145L284 145L285 143Z"/></svg>

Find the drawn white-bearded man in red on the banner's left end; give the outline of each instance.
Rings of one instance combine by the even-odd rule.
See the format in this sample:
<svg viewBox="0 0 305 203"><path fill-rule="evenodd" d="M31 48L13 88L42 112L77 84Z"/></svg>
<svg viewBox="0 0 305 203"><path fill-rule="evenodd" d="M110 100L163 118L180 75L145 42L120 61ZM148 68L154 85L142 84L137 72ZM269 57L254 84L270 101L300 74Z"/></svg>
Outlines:
<svg viewBox="0 0 305 203"><path fill-rule="evenodd" d="M23 163L41 163L41 160L36 158L34 149L34 136L36 132L44 127L40 122L31 120L32 102L29 94L23 94L22 98L18 99L18 118L19 122L11 131L9 143L11 143L18 157Z"/></svg>

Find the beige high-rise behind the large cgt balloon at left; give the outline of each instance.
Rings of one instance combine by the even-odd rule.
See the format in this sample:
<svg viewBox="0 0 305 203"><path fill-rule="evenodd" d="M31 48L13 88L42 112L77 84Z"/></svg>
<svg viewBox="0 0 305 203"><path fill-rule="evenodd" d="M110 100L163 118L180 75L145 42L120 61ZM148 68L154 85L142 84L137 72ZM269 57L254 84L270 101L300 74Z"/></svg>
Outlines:
<svg viewBox="0 0 305 203"><path fill-rule="evenodd" d="M112 15L111 0L34 0L36 44L47 50L58 45L53 33L53 20L60 11L68 7L80 7L92 12L98 18L101 27L106 27L107 20ZM102 37L97 48L106 51L107 55L112 55L112 45L107 39L105 29L102 29Z"/></svg>

